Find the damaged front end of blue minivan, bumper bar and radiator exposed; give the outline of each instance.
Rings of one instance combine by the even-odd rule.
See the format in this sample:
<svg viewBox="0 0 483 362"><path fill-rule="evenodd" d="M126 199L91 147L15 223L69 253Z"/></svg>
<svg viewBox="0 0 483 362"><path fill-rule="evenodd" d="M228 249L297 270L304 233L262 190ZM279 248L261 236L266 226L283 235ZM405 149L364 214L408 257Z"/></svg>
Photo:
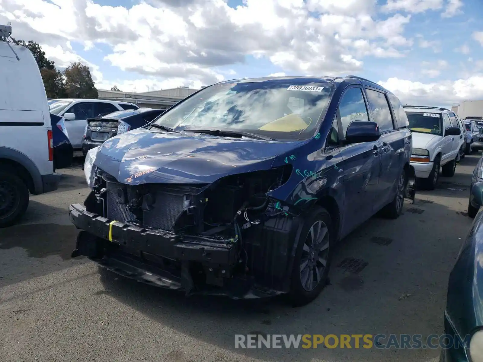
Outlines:
<svg viewBox="0 0 483 362"><path fill-rule="evenodd" d="M267 194L291 165L231 174L212 183L120 183L99 167L84 205L69 208L82 229L72 257L186 294L268 297L289 291L302 222Z"/></svg>

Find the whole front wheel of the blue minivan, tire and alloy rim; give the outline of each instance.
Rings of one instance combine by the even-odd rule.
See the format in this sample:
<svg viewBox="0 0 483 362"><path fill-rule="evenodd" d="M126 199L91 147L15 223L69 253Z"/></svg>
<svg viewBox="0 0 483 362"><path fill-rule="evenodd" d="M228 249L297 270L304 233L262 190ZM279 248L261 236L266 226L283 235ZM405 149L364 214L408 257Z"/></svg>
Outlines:
<svg viewBox="0 0 483 362"><path fill-rule="evenodd" d="M327 285L332 241L332 219L319 206L309 211L304 223L292 269L289 298L295 306L312 302Z"/></svg>

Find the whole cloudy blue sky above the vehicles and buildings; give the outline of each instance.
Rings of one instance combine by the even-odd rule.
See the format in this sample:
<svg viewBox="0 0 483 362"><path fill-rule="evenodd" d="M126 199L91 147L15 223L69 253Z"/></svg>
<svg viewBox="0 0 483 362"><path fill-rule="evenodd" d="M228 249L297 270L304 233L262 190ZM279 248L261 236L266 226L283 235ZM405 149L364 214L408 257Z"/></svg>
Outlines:
<svg viewBox="0 0 483 362"><path fill-rule="evenodd" d="M402 102L483 99L481 0L0 0L0 23L98 89L358 75Z"/></svg>

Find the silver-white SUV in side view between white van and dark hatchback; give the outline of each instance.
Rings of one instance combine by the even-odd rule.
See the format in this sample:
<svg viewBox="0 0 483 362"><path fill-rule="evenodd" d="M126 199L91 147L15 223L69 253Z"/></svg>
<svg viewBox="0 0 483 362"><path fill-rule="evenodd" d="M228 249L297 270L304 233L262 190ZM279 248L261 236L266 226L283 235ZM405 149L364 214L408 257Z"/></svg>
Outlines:
<svg viewBox="0 0 483 362"><path fill-rule="evenodd" d="M49 103L51 113L65 118L69 140L74 150L82 148L87 118L97 117L101 113L139 108L133 103L105 99L59 98L50 100Z"/></svg>

